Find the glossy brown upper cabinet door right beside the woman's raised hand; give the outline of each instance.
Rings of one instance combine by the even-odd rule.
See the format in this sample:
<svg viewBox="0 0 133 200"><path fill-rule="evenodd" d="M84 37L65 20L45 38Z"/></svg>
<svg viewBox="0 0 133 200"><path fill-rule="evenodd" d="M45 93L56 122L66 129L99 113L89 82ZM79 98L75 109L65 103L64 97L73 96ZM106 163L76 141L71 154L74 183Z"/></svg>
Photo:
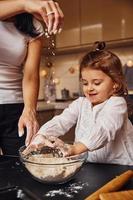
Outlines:
<svg viewBox="0 0 133 200"><path fill-rule="evenodd" d="M80 0L61 0L65 20L63 31L56 36L56 48L80 45Z"/></svg>

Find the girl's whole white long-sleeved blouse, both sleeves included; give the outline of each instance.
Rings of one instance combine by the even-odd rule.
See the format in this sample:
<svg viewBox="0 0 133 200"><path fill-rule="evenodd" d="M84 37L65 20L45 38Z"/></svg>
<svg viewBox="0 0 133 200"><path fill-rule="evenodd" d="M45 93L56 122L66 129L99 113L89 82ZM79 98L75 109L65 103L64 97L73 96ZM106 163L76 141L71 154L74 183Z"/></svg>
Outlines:
<svg viewBox="0 0 133 200"><path fill-rule="evenodd" d="M80 97L39 132L61 136L75 124L75 142L89 149L89 162L133 165L133 125L123 97L111 97L94 107Z"/></svg>

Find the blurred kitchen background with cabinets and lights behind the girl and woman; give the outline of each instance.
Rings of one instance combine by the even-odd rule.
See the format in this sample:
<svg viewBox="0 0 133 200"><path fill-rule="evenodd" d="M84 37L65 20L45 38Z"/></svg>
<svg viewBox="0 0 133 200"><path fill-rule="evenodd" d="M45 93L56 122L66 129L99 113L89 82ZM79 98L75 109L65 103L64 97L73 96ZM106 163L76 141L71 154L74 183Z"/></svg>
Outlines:
<svg viewBox="0 0 133 200"><path fill-rule="evenodd" d="M73 99L82 95L79 62L98 40L104 40L107 49L120 57L132 99L133 1L57 1L65 15L64 27L60 34L44 37L38 109L48 111L53 102L54 114L58 114L59 110L62 111ZM44 105L44 100L49 105Z"/></svg>

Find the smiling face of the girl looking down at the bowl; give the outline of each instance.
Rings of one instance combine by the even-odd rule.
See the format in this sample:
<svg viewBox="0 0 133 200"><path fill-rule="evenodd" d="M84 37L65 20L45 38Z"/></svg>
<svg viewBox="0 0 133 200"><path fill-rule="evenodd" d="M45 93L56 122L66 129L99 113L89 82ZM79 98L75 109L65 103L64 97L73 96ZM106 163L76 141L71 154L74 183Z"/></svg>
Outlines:
<svg viewBox="0 0 133 200"><path fill-rule="evenodd" d="M102 103L113 95L116 84L101 70L85 68L81 77L84 95L93 105Z"/></svg>

